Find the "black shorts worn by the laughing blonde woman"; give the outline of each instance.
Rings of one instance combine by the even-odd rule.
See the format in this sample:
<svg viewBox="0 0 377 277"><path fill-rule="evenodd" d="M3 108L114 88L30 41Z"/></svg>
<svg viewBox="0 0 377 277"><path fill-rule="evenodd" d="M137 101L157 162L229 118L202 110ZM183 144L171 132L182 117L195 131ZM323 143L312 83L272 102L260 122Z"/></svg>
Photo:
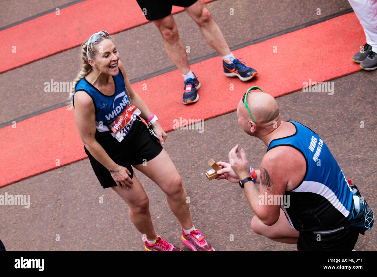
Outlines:
<svg viewBox="0 0 377 277"><path fill-rule="evenodd" d="M132 129L121 142L113 138L110 131L102 133L96 131L95 139L114 162L130 171L131 179L133 178L131 165L150 161L162 151L161 144L149 133L147 126L138 120L133 122ZM110 171L93 158L85 146L84 149L102 187L115 187L116 183L111 177Z"/></svg>

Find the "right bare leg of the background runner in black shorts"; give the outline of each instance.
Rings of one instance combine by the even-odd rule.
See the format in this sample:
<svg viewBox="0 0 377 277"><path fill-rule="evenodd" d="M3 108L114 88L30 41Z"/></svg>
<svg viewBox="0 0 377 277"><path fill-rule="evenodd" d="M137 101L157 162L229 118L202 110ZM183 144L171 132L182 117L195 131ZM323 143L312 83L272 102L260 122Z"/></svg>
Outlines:
<svg viewBox="0 0 377 277"><path fill-rule="evenodd" d="M205 6L204 0L198 0L193 5L185 8L190 17L198 24L207 43L212 46L221 56L230 54L230 49L225 41L219 26L211 17Z"/></svg>

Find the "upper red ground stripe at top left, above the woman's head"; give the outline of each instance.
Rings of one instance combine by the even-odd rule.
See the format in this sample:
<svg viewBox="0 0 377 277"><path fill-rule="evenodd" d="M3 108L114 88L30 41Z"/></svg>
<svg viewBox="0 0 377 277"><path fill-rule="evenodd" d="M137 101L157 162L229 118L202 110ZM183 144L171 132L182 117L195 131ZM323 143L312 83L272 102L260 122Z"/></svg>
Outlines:
<svg viewBox="0 0 377 277"><path fill-rule="evenodd" d="M172 13L183 10L173 6ZM0 32L0 73L80 46L95 32L116 34L147 22L136 0L87 0L42 15Z"/></svg>

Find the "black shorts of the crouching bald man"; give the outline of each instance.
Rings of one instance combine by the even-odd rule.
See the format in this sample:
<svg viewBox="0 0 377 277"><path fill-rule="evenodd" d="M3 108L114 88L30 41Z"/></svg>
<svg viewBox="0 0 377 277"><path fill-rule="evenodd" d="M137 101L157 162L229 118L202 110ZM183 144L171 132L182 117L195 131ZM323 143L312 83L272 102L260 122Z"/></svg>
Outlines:
<svg viewBox="0 0 377 277"><path fill-rule="evenodd" d="M298 251L352 251L359 237L355 229L341 230L333 234L300 232L297 241Z"/></svg>

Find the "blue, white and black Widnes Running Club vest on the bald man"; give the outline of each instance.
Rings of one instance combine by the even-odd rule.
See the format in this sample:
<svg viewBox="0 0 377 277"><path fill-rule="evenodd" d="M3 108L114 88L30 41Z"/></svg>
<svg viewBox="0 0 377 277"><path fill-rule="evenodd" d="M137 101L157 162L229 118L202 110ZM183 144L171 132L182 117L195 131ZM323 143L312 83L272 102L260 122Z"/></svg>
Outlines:
<svg viewBox="0 0 377 277"><path fill-rule="evenodd" d="M294 190L285 191L289 207L281 207L297 231L339 228L353 208L352 190L322 139L299 122L288 122L296 127L296 133L274 139L267 151L279 145L292 146L304 156L307 171Z"/></svg>

